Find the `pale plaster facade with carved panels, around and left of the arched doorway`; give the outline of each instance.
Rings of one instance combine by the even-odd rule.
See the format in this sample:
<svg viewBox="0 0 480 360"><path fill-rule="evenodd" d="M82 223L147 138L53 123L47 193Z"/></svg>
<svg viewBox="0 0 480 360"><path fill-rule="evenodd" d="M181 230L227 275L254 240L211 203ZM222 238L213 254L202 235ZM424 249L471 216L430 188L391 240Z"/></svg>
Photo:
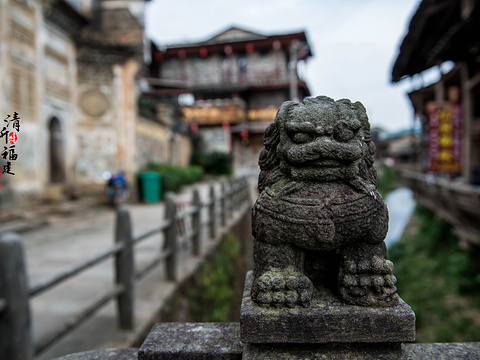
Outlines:
<svg viewBox="0 0 480 360"><path fill-rule="evenodd" d="M15 173L9 186L16 193L17 200L41 197L49 182L49 120L57 117L64 132L64 157L67 180L71 174L75 157L74 125L77 117L76 98L76 49L72 39L56 26L45 21L41 2L30 0L26 8L12 0L0 0L0 117L13 111L20 115L20 132L16 143L18 159L12 163ZM33 13L33 17L29 15ZM34 44L29 46L21 40L12 39L12 21L33 32ZM46 63L46 47L67 59L62 78L55 73L55 67ZM12 68L28 69L32 74L32 111L26 114L13 109ZM23 71L23 70L22 70ZM52 96L45 91L48 73L68 89L68 96ZM53 72L53 74L52 74ZM25 90L25 89L24 89ZM21 92L21 97L25 94ZM30 99L29 99L30 101Z"/></svg>

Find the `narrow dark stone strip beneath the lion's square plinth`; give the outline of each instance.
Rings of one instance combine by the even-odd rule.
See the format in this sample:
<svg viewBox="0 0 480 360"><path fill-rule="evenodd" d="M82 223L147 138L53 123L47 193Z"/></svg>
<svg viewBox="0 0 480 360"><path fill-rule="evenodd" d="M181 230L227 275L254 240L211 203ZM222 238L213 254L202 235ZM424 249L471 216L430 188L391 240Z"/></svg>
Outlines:
<svg viewBox="0 0 480 360"><path fill-rule="evenodd" d="M249 344L243 360L399 360L401 344Z"/></svg>

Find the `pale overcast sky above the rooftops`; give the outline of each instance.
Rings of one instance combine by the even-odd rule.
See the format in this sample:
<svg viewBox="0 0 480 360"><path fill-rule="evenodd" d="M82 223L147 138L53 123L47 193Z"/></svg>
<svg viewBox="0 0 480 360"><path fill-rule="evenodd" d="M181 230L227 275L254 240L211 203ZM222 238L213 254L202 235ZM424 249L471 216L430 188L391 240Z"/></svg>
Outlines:
<svg viewBox="0 0 480 360"><path fill-rule="evenodd" d="M147 36L159 45L203 41L230 26L265 35L305 31L313 57L302 69L313 96L361 101L372 126L408 128L410 81L390 83L419 0L152 0Z"/></svg>

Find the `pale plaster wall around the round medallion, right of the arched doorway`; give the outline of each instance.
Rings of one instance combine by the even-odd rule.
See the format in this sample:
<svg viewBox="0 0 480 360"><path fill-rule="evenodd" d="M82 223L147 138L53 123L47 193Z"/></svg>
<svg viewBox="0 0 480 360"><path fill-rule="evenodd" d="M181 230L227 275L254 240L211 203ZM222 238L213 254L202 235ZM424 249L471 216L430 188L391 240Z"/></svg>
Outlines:
<svg viewBox="0 0 480 360"><path fill-rule="evenodd" d="M77 125L78 153L75 171L81 183L101 183L104 171L125 171L133 180L136 171L136 98L135 74L139 65L135 60L112 66L111 83L85 82L80 93L88 89L100 90L108 97L109 107L102 116L92 117L80 111Z"/></svg>

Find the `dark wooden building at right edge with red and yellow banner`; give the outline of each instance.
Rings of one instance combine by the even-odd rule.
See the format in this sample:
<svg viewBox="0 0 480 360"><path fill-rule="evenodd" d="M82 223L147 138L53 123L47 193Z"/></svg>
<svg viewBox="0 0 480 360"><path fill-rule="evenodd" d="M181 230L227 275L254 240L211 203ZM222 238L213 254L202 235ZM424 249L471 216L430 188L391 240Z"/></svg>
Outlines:
<svg viewBox="0 0 480 360"><path fill-rule="evenodd" d="M443 72L449 62L451 70ZM444 66L444 65L443 65ZM409 93L422 123L425 174L406 174L418 202L480 247L480 1L423 0L392 71L392 82L438 67L440 80ZM421 77L421 75L420 75Z"/></svg>

